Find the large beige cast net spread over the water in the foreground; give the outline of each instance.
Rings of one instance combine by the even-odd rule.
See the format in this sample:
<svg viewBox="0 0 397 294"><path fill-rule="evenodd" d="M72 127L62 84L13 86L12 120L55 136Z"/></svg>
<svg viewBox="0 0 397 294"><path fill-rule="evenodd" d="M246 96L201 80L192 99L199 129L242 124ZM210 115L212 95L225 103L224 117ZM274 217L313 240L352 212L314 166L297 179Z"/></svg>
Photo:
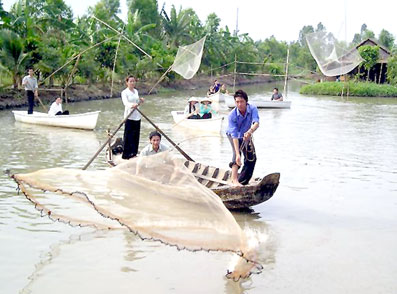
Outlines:
<svg viewBox="0 0 397 294"><path fill-rule="evenodd" d="M97 171L51 168L15 174L42 214L74 225L126 227L142 239L188 250L235 252L228 277L261 269L255 250L221 199L170 152ZM87 209L90 210L87 212Z"/></svg>

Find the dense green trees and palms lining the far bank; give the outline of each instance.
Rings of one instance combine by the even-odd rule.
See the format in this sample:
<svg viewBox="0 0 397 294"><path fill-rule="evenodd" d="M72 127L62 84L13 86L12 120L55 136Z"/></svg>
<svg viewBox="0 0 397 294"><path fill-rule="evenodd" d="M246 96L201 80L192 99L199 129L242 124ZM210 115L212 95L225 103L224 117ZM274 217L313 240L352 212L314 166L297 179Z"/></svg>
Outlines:
<svg viewBox="0 0 397 294"><path fill-rule="evenodd" d="M172 64L178 46L205 35L199 74L232 74L236 58L237 72L282 75L288 48L291 74L318 72L304 36L325 30L321 23L304 26L295 42L274 36L254 41L221 27L215 13L202 22L191 8L165 11L157 0L128 0L127 5L125 22L118 16L120 0L98 0L78 18L64 0L17 0L10 11L0 1L0 83L18 87L27 67L47 85L122 81L128 73L154 80ZM364 26L360 40L372 36ZM393 46L390 33L382 31L380 37ZM173 73L166 77L178 78Z"/></svg>

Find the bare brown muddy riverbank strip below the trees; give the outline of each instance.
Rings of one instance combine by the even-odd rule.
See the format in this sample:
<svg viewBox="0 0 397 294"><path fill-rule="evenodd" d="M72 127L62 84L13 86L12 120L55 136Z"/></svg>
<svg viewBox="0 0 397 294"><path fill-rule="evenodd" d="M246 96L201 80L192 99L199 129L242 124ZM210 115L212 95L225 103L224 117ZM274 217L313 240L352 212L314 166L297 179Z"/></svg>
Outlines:
<svg viewBox="0 0 397 294"><path fill-rule="evenodd" d="M202 95L204 96L207 92L209 86L213 83L214 79L217 77L200 76L194 77L190 80L176 80L172 83L161 83L152 91L151 94L177 91L177 90L197 90L203 89ZM225 83L227 88L231 89L233 87L233 76L224 76L217 78L221 83ZM269 76L256 76L256 77L236 77L236 86L244 86L249 84L258 83L270 83L275 81L275 78ZM156 81L138 81L137 89L140 95L148 95L150 89ZM120 97L121 91L125 88L124 84L118 83L113 86L113 93L111 95L110 83L109 85L104 84L93 84L93 85L81 85L73 84L68 87L67 92L63 91L61 87L40 87L39 88L39 98L45 105L50 105L56 97L62 95L65 102L79 102L88 100L100 100L100 99L110 99ZM38 104L38 101L36 101ZM22 89L7 89L0 93L0 110L13 109L26 107L27 101L25 97L25 91Z"/></svg>

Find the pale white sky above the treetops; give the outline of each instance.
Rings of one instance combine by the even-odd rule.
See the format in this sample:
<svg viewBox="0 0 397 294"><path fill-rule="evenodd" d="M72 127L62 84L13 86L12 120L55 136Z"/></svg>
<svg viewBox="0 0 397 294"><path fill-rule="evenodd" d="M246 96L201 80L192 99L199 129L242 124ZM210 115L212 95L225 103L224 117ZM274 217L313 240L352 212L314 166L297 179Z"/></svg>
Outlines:
<svg viewBox="0 0 397 294"><path fill-rule="evenodd" d="M2 0L3 8L9 10L15 0ZM75 16L87 12L99 0L64 0ZM378 0L379 1L379 0ZM158 0L159 9L165 3L170 11L175 5L177 10L193 8L204 23L210 13L215 12L221 19L221 27L228 26L233 32L236 28L238 10L238 29L248 33L254 40L264 40L275 36L277 40L295 41L305 25L314 28L319 22L332 32L340 41L351 42L365 23L377 37L382 29L389 31L397 39L395 0ZM395 4L396 3L396 4ZM121 17L126 19L126 0L120 0Z"/></svg>

